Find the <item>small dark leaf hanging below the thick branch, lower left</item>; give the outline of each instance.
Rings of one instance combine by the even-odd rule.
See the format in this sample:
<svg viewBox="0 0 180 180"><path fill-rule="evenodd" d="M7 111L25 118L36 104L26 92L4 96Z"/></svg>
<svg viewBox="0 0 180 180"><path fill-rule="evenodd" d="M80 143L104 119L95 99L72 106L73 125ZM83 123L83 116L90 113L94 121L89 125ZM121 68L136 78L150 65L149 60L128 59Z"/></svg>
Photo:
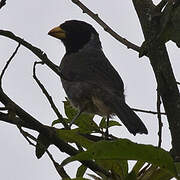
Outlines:
<svg viewBox="0 0 180 180"><path fill-rule="evenodd" d="M46 152L46 149L49 147L50 142L48 141L47 137L43 134L39 134L37 138L36 144L36 157L40 159L43 154Z"/></svg>

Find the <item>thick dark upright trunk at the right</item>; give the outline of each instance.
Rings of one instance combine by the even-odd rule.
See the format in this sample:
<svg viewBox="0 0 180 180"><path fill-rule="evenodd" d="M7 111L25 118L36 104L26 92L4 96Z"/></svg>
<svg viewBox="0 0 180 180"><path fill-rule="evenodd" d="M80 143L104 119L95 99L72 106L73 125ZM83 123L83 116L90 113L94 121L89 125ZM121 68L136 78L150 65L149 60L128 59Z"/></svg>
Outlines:
<svg viewBox="0 0 180 180"><path fill-rule="evenodd" d="M160 29L159 23L152 18L154 13L156 13L156 6L151 0L132 1L138 14L145 40L151 41L152 37L156 37ZM174 155L178 157L180 156L179 90L165 44L159 40L151 42L148 46L148 54L158 84L158 92L168 117Z"/></svg>

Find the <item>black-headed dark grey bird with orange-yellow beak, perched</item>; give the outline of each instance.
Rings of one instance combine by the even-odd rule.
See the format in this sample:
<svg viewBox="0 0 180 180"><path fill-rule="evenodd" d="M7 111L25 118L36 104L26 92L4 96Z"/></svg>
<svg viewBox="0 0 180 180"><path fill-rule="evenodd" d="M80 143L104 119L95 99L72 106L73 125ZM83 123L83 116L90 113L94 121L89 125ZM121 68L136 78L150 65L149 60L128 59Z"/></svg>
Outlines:
<svg viewBox="0 0 180 180"><path fill-rule="evenodd" d="M133 135L147 134L141 119L125 103L123 81L104 55L97 31L86 22L70 20L48 34L65 46L61 81L72 105L80 113L107 119L117 115Z"/></svg>

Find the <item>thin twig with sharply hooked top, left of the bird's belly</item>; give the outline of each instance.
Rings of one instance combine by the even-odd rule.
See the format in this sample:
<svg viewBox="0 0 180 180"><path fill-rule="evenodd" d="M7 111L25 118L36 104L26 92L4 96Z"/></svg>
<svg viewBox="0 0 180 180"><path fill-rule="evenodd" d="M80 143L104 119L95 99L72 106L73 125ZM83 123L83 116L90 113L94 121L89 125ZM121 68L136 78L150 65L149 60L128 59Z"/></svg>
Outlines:
<svg viewBox="0 0 180 180"><path fill-rule="evenodd" d="M62 115L60 114L58 108L56 107L55 103L53 102L52 97L49 95L48 91L46 90L46 88L43 86L43 84L40 82L40 80L37 78L36 76L36 65L37 64L42 64L42 62L34 62L34 66L33 66L33 78L35 79L36 83L38 84L38 86L41 88L43 94L46 96L46 98L48 99L52 109L54 110L54 112L56 113L57 117L59 118L59 120L62 122L62 124L64 125L64 127L66 129L69 129L68 124L64 121Z"/></svg>

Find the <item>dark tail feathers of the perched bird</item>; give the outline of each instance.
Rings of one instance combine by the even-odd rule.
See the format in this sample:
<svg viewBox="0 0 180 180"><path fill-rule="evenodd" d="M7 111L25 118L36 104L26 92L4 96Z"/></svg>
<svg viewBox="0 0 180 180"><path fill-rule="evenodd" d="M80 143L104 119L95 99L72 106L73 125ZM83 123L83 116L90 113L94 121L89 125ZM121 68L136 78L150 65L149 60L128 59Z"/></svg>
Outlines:
<svg viewBox="0 0 180 180"><path fill-rule="evenodd" d="M118 102L117 104L118 106L116 105L114 107L116 110L115 113L130 133L133 135L136 135L136 133L148 134L148 130L141 119L124 101Z"/></svg>

